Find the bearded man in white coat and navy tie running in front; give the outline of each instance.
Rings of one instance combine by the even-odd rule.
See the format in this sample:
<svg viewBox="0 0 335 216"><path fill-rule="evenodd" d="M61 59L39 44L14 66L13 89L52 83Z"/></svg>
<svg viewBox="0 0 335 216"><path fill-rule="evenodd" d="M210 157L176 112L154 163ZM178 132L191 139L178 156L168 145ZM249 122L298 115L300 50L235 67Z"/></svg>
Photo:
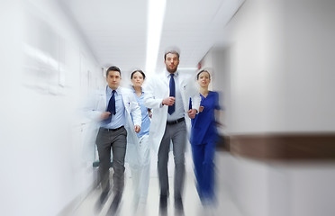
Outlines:
<svg viewBox="0 0 335 216"><path fill-rule="evenodd" d="M185 180L186 119L195 118L198 109L188 110L189 98L192 107L200 106L200 95L195 79L177 70L179 53L169 50L165 53L166 70L162 75L152 77L143 86L144 104L152 108L150 136L158 151L158 178L160 186L159 211L167 214L168 206L168 152L173 144L175 158L175 210L183 214L182 193Z"/></svg>

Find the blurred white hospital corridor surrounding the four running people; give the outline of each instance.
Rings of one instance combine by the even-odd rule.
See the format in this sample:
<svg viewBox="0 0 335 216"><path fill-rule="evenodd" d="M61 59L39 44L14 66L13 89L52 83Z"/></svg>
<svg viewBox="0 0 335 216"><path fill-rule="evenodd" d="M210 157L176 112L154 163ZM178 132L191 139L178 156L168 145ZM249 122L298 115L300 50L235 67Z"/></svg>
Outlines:
<svg viewBox="0 0 335 216"><path fill-rule="evenodd" d="M2 0L0 213L93 215L80 105L107 67L129 85L177 47L178 69L209 68L221 93L213 215L334 215L334 12L331 0ZM202 215L186 154L186 215ZM157 215L154 163L151 183Z"/></svg>

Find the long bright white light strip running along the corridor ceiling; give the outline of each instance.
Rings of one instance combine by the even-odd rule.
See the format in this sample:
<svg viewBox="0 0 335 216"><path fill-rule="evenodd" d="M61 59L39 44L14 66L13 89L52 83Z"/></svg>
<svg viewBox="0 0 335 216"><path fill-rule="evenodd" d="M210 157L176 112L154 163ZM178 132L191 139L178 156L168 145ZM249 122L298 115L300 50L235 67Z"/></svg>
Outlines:
<svg viewBox="0 0 335 216"><path fill-rule="evenodd" d="M149 0L147 57L145 68L145 71L148 74L153 74L156 69L166 3L166 0Z"/></svg>

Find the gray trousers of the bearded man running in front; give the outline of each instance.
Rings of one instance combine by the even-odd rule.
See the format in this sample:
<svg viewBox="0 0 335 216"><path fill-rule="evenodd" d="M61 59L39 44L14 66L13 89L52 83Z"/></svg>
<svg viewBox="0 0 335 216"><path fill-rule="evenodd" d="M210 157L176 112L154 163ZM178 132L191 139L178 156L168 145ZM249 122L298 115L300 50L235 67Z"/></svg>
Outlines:
<svg viewBox="0 0 335 216"><path fill-rule="evenodd" d="M168 152L170 141L175 159L175 198L181 198L185 180L186 121L168 125L158 149L160 195L168 195Z"/></svg>

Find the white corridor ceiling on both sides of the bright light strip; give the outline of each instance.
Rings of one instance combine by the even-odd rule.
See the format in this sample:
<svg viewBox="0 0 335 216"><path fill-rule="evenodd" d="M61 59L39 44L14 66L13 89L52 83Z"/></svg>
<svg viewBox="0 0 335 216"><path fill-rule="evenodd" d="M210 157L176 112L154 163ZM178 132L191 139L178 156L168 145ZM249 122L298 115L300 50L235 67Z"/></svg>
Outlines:
<svg viewBox="0 0 335 216"><path fill-rule="evenodd" d="M157 0L158 1L158 0ZM164 52L180 49L179 68L195 68L206 52L223 40L223 28L244 0L167 0L156 71ZM98 63L122 70L145 70L149 0L63 0Z"/></svg>

